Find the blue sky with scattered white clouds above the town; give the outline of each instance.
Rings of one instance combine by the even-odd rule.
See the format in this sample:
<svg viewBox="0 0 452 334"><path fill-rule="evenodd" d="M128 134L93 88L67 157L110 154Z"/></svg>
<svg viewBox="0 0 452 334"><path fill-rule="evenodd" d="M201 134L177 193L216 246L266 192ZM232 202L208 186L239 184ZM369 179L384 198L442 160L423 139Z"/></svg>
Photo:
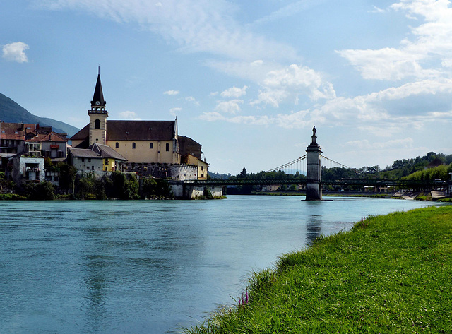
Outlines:
<svg viewBox="0 0 452 334"><path fill-rule="evenodd" d="M350 167L452 154L448 0L3 0L0 93L81 129L172 120L210 172L305 154Z"/></svg>

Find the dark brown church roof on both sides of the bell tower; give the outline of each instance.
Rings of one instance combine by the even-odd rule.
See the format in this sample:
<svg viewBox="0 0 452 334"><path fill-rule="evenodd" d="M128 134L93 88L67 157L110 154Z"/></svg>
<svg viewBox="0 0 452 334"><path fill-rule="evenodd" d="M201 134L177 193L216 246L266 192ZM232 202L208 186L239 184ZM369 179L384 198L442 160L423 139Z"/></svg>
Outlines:
<svg viewBox="0 0 452 334"><path fill-rule="evenodd" d="M176 121L107 121L107 141L171 141ZM71 137L84 141L89 124Z"/></svg>

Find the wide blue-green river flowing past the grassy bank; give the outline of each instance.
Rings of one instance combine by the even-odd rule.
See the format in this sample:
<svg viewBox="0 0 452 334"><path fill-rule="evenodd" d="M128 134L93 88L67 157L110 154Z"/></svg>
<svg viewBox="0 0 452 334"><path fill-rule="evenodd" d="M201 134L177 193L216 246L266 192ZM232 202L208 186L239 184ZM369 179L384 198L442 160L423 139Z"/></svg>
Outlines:
<svg viewBox="0 0 452 334"><path fill-rule="evenodd" d="M302 199L2 201L0 333L177 332L320 234L440 205Z"/></svg>

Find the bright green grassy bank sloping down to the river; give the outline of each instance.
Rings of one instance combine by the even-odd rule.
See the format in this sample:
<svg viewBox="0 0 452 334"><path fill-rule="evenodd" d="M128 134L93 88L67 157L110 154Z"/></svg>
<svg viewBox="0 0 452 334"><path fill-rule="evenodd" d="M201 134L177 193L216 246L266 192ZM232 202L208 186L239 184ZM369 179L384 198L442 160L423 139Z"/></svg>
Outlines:
<svg viewBox="0 0 452 334"><path fill-rule="evenodd" d="M247 303L187 333L452 333L451 278L451 206L368 217L255 273Z"/></svg>

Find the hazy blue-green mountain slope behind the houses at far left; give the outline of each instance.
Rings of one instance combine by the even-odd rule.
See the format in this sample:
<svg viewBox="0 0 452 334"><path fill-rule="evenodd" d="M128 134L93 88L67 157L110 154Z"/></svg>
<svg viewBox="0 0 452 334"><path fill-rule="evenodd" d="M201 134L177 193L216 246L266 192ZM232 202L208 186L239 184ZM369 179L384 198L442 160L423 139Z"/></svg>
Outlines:
<svg viewBox="0 0 452 334"><path fill-rule="evenodd" d="M57 133L67 133L70 138L78 132L75 126L71 126L62 121L56 121L47 117L39 117L31 114L27 109L20 107L9 97L0 93L0 121L7 123L39 123L40 125L52 126L52 130Z"/></svg>

